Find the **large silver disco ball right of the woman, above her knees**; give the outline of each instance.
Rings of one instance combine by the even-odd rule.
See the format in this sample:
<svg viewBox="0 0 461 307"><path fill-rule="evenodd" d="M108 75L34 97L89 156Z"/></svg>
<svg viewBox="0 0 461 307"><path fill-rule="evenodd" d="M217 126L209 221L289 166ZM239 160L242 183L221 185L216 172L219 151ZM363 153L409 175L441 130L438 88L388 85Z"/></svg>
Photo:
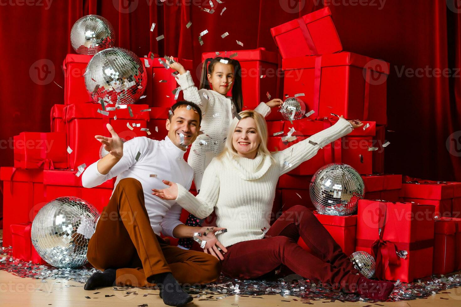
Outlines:
<svg viewBox="0 0 461 307"><path fill-rule="evenodd" d="M350 215L357 210L365 185L354 168L343 163L331 163L315 172L309 192L320 214Z"/></svg>

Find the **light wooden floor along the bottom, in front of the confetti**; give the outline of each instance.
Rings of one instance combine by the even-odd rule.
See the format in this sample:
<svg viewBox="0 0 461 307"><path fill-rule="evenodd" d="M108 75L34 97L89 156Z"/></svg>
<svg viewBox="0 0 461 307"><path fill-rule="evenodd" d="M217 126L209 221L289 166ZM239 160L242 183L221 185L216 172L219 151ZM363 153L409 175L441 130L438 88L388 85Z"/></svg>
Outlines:
<svg viewBox="0 0 461 307"><path fill-rule="evenodd" d="M0 230L0 237L2 231ZM0 271L0 307L3 306L165 306L158 296L157 290L145 290L134 288L138 295L126 295L126 291L115 291L112 288L85 291L83 284L67 281L48 279L42 283L39 279L20 278L11 273ZM461 287L446 290L448 294L437 294L428 299L412 301L398 301L390 303L379 303L379 306L404 306L404 307L460 307ZM106 297L106 295L113 295ZM147 295L147 296L144 296ZM86 298L89 297L89 298ZM228 296L219 301L198 301L194 299L188 306L306 306L299 298L294 296L263 295L262 298ZM294 301L296 299L297 301ZM325 307L322 301L314 301L314 305ZM327 302L331 306L378 306L371 302L342 303L340 301Z"/></svg>

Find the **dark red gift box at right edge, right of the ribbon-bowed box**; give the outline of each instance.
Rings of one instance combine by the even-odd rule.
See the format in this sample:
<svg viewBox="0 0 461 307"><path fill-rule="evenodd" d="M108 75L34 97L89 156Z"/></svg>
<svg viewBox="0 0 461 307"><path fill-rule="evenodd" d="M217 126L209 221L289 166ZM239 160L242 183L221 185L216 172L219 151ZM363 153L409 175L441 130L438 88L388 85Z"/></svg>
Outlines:
<svg viewBox="0 0 461 307"><path fill-rule="evenodd" d="M435 220L434 257L432 273L447 274L454 272L455 259L461 255L456 250L457 224L461 219L440 218Z"/></svg>

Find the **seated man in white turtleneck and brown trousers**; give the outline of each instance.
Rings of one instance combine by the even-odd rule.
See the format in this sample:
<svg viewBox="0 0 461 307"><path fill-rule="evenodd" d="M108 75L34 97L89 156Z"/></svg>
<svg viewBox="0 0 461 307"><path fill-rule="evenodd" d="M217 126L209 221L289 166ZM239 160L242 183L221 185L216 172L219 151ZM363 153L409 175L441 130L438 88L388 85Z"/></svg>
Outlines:
<svg viewBox="0 0 461 307"><path fill-rule="evenodd" d="M95 136L109 154L84 171L83 186L97 186L114 176L117 180L87 253L89 262L104 272L93 274L85 290L114 283L138 287L155 283L166 305L182 306L192 297L179 284L206 284L219 277L217 258L170 246L160 237L160 232L177 238L193 237L194 232L204 233L206 227L183 225L179 221L181 207L175 201L152 195L152 189L165 187L162 180L190 188L193 170L183 155L199 134L200 123L200 108L179 101L171 107L164 140L137 137L123 144L109 124L111 138ZM214 236L221 229L215 227L202 238L207 245L216 244L226 252Z"/></svg>

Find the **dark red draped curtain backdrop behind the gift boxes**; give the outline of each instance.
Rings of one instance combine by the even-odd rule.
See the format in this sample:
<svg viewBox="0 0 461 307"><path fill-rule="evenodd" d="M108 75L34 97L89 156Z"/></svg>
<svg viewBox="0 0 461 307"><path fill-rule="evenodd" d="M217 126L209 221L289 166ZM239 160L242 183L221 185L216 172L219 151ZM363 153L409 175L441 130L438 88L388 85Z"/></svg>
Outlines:
<svg viewBox="0 0 461 307"><path fill-rule="evenodd" d="M70 30L84 15L106 17L116 31L116 46L139 56L152 51L193 59L197 67L202 52L277 51L271 27L329 6L344 50L390 62L387 129L395 132L386 133L391 143L385 149L386 172L461 180L458 0L222 2L213 0L215 12L209 14L201 11L211 8L208 0L0 0L0 166L12 165L13 135L49 131L50 108L63 103L62 62L74 52ZM225 32L229 36L222 39ZM165 39L156 41L162 34ZM436 69L452 76L437 76Z"/></svg>

